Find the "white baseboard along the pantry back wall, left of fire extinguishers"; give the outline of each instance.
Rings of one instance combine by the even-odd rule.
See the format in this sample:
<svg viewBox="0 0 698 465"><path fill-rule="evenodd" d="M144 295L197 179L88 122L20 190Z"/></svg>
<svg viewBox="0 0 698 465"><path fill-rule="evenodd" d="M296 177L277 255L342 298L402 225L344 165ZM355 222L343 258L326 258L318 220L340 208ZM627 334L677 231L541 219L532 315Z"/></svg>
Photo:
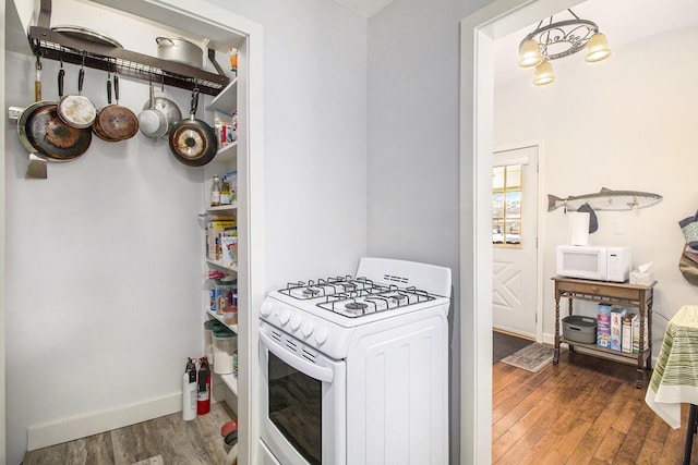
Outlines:
<svg viewBox="0 0 698 465"><path fill-rule="evenodd" d="M46 448L67 441L85 438L153 418L170 415L182 409L182 394L127 405L110 411L94 412L55 423L29 426L27 450Z"/></svg>

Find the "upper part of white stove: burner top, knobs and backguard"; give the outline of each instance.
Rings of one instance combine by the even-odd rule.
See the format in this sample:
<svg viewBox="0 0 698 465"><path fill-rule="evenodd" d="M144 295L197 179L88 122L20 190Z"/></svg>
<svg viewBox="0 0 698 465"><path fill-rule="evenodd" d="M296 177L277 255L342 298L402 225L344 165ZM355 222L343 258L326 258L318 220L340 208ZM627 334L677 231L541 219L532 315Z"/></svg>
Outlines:
<svg viewBox="0 0 698 465"><path fill-rule="evenodd" d="M345 358L352 329L435 306L446 305L447 313L449 298L448 268L364 257L356 278L300 281L269 293L260 318L330 357Z"/></svg>

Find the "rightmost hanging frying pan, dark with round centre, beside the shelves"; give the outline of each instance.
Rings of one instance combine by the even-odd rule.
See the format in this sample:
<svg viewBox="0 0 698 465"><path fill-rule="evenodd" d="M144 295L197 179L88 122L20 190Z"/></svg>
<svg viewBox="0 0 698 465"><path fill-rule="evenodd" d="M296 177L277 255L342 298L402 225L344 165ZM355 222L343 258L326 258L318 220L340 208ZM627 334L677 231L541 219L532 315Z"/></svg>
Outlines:
<svg viewBox="0 0 698 465"><path fill-rule="evenodd" d="M194 89L189 119L174 123L169 139L174 157L190 167L208 163L218 150L216 131L195 117L197 106L198 89Z"/></svg>

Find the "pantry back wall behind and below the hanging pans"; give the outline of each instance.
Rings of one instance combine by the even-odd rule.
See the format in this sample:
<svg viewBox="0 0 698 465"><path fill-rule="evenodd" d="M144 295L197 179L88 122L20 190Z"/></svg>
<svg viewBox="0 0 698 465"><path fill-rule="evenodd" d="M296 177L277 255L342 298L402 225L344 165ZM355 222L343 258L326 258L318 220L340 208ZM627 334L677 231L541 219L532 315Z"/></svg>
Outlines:
<svg viewBox="0 0 698 465"><path fill-rule="evenodd" d="M21 77L33 65L8 53L8 105L33 99L31 79ZM55 99L48 83L57 63L44 70L45 98ZM104 78L86 77L98 106ZM121 95L140 109L147 94L122 79ZM13 130L5 132L9 463L21 458L27 427L177 394L181 360L200 352L202 302L192 246L202 235L201 170L177 162L166 142L95 137L80 159L51 163L48 180L25 180L27 156Z"/></svg>

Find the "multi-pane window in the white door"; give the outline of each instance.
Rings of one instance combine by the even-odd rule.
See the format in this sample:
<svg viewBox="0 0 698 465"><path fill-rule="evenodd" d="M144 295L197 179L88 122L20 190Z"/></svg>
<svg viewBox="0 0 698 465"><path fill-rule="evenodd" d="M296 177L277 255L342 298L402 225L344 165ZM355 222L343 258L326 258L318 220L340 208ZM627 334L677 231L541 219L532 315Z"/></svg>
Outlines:
<svg viewBox="0 0 698 465"><path fill-rule="evenodd" d="M492 169L492 244L521 245L521 164Z"/></svg>

